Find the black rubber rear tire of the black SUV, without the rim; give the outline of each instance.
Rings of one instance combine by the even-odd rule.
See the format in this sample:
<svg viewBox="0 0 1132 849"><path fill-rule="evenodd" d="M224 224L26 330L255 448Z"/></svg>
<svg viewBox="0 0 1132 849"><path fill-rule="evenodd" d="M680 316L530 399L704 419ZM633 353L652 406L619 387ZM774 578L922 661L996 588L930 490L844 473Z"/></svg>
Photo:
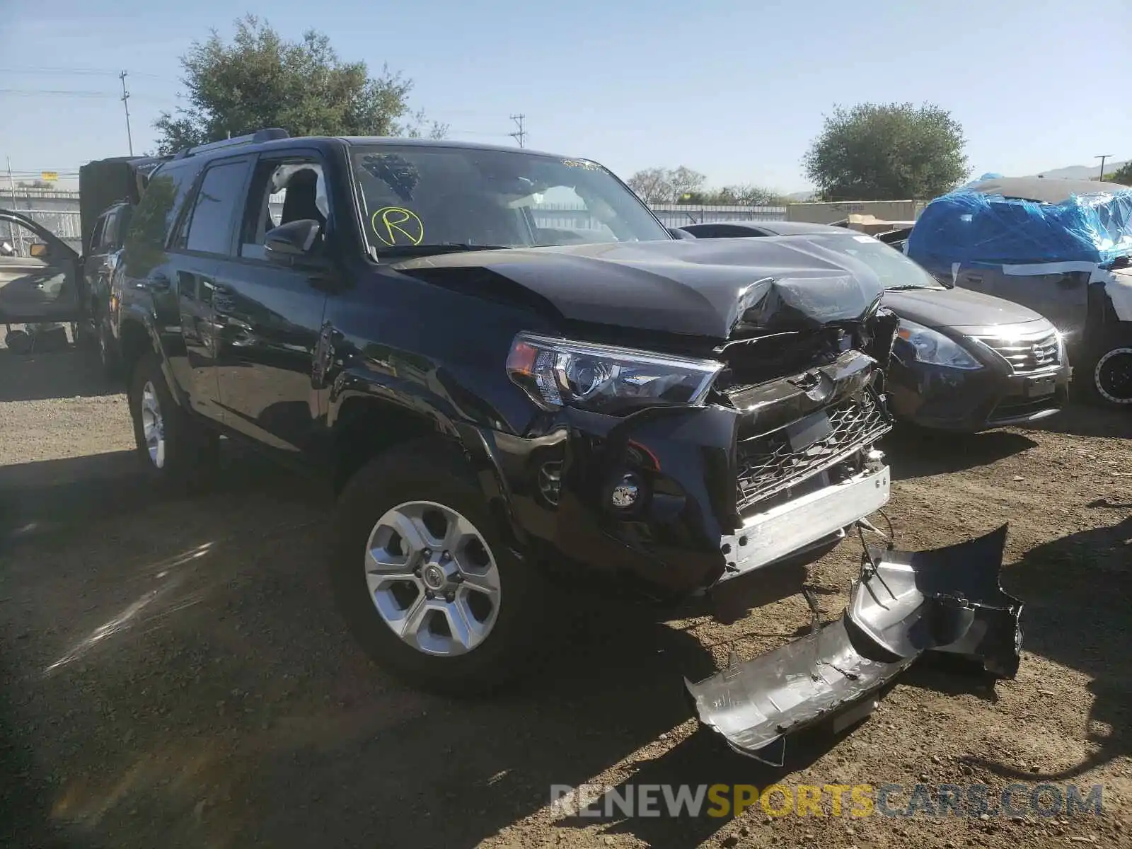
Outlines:
<svg viewBox="0 0 1132 849"><path fill-rule="evenodd" d="M153 387L164 423L164 452L160 464L149 454L143 420L143 395ZM134 420L134 439L144 473L157 486L170 490L194 489L205 483L215 468L220 437L195 421L169 392L161 361L147 353L130 372L127 397Z"/></svg>

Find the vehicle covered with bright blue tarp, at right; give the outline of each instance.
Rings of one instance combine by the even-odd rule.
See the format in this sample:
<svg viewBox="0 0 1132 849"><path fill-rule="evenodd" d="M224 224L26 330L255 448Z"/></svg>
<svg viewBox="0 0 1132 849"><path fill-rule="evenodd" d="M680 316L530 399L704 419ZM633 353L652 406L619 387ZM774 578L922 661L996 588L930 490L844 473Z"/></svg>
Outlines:
<svg viewBox="0 0 1132 849"><path fill-rule="evenodd" d="M1132 410L1132 188L988 175L928 204L907 254L1049 318L1092 396Z"/></svg>

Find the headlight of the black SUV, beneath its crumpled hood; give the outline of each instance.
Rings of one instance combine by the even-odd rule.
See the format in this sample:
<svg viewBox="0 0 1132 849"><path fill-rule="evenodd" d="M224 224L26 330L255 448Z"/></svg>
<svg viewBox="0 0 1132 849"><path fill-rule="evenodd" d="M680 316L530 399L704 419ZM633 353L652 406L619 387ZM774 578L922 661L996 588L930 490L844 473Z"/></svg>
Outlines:
<svg viewBox="0 0 1132 849"><path fill-rule="evenodd" d="M515 337L507 357L507 375L543 410L568 405L615 414L701 404L722 368L713 360L528 333Z"/></svg>

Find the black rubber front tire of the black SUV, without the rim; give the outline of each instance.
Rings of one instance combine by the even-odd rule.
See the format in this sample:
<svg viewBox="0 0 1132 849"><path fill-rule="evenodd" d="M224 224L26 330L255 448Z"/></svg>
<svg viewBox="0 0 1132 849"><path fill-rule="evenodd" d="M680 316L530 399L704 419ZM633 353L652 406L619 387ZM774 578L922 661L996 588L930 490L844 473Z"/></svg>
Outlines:
<svg viewBox="0 0 1132 849"><path fill-rule="evenodd" d="M408 501L454 509L480 532L499 575L495 624L479 645L458 655L427 654L401 640L377 612L366 581L365 551L378 520ZM354 638L381 668L423 689L482 695L531 668L547 624L546 578L537 565L501 544L482 491L463 454L422 439L377 456L348 482L338 500L337 544L331 563L335 600Z"/></svg>

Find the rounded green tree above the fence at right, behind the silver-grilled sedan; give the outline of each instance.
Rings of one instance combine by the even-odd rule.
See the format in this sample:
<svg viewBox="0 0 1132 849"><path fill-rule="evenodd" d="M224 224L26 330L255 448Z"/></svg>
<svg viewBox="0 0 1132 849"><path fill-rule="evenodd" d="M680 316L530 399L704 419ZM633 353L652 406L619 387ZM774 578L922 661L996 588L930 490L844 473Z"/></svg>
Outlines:
<svg viewBox="0 0 1132 849"><path fill-rule="evenodd" d="M940 106L835 106L803 157L826 200L933 198L967 178L963 129Z"/></svg>

